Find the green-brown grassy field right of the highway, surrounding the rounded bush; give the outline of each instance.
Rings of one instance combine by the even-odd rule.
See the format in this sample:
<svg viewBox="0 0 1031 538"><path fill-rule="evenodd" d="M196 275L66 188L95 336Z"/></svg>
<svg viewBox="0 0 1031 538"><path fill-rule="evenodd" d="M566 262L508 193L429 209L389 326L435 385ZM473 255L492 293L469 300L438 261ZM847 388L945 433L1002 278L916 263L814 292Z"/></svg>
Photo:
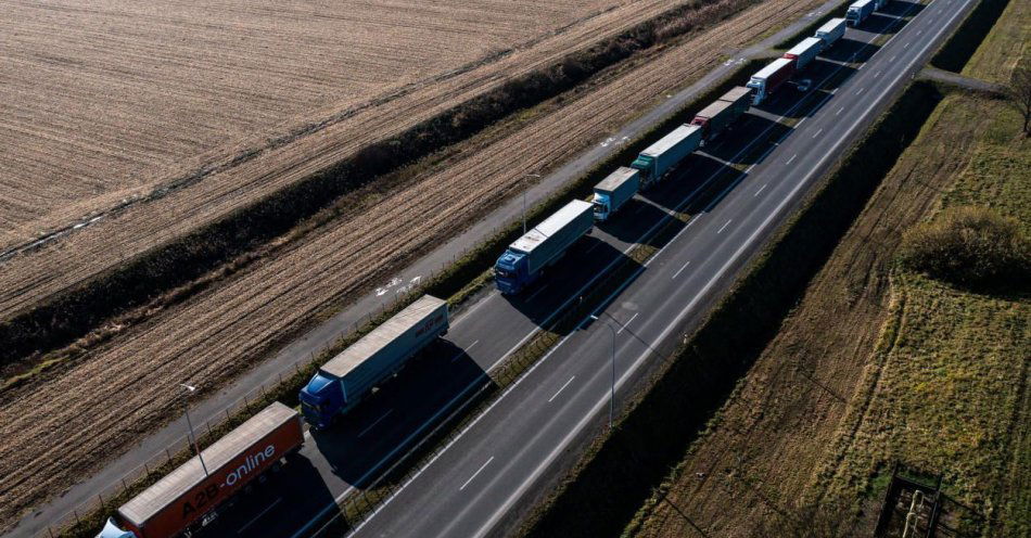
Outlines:
<svg viewBox="0 0 1031 538"><path fill-rule="evenodd" d="M1011 2L993 35L1020 42L1026 10ZM990 37L968 68L1005 80L1010 50ZM633 536L779 536L812 507L841 510L825 515L847 536L871 528L895 461L944 476L981 517L965 531L1027 536L1028 297L893 264L901 232L941 207L992 206L1027 231L1019 130L1005 103L945 95Z"/></svg>

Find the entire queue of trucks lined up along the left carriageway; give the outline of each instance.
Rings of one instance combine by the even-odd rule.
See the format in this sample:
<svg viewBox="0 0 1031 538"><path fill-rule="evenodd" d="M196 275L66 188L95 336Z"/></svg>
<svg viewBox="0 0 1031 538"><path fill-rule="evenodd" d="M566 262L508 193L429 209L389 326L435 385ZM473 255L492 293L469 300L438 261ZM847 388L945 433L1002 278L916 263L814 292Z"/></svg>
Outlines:
<svg viewBox="0 0 1031 538"><path fill-rule="evenodd" d="M875 3L876 2L876 3ZM498 258L495 280L502 294L520 293L593 229L638 192L669 176L705 142L716 139L743 114L830 48L887 0L860 0L845 18L832 18L814 37L792 47L753 75L645 149L629 167L620 167L594 189L591 202L573 201L526 232ZM853 10L855 8L855 10ZM853 14L854 13L854 14ZM301 389L301 413L273 402L178 469L123 504L98 538L170 538L189 534L238 490L278 466L304 444L302 420L330 426L394 375L412 357L447 333L447 303L424 295L330 359Z"/></svg>

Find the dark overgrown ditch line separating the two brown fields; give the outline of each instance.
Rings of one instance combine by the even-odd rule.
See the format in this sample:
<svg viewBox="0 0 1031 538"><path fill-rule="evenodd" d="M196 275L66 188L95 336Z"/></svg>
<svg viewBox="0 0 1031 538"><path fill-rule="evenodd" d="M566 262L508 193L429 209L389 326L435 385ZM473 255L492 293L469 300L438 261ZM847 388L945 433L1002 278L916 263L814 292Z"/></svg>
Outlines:
<svg viewBox="0 0 1031 538"><path fill-rule="evenodd" d="M466 140L513 112L575 88L637 51L721 21L754 0L696 0L367 146L303 181L175 242L124 261L0 323L0 367L72 344L105 321L160 299L278 238L338 197ZM182 294L177 296L181 300Z"/></svg>

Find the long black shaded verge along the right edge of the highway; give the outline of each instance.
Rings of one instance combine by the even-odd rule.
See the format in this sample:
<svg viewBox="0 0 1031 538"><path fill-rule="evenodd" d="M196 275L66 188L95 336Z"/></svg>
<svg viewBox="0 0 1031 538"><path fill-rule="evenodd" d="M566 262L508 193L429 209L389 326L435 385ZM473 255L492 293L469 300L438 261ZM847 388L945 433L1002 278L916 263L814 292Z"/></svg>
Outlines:
<svg viewBox="0 0 1031 538"><path fill-rule="evenodd" d="M614 536L632 522L627 534L633 534L652 505L646 501L657 502L664 490L653 494L655 489L675 483L675 476L663 481L776 335L940 100L933 85L917 82L878 119L635 396L616 427L595 439L556 492L534 510L522 536Z"/></svg>

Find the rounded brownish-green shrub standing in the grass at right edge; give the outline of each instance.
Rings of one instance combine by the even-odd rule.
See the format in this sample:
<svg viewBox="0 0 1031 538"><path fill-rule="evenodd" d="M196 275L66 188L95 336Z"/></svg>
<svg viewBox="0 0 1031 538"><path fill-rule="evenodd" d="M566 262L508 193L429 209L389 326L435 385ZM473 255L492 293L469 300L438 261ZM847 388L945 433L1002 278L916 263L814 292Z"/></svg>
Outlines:
<svg viewBox="0 0 1031 538"><path fill-rule="evenodd" d="M945 209L902 238L906 269L965 286L1026 286L1031 248L1019 223L988 207Z"/></svg>

